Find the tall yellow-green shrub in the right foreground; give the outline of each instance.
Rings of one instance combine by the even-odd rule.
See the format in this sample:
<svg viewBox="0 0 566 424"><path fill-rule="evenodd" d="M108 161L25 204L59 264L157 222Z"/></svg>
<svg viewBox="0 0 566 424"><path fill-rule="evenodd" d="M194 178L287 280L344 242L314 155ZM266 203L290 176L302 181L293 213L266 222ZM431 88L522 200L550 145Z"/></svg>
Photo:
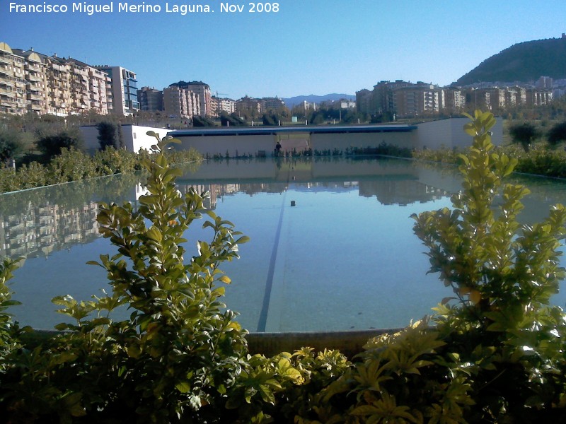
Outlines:
<svg viewBox="0 0 566 424"><path fill-rule="evenodd" d="M463 190L452 198L454 209L414 218L415 233L429 248L430 271L440 273L458 301L458 307L439 307L435 321L455 365L469 364L473 416L498 422L564 406L565 315L548 301L565 277L559 240L566 209L557 205L542 223L519 224L529 191L502 184L516 160L493 152L492 124L491 114L476 112L465 127L474 141L460 157Z"/></svg>

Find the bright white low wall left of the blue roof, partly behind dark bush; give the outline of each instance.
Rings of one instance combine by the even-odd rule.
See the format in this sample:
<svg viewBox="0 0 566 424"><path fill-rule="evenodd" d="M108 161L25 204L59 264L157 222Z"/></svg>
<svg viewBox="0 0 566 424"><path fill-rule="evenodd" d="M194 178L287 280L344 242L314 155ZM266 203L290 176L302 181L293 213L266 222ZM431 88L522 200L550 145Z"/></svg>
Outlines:
<svg viewBox="0 0 566 424"><path fill-rule="evenodd" d="M98 129L96 128L96 125L83 125L80 129L86 151L91 154L98 151L100 143L98 143ZM148 136L147 131L154 131L156 134L159 134L161 139L167 135L168 131L171 131L171 129L152 128L151 126L138 126L132 124L121 125L120 130L122 131L124 148L127 151L136 153L139 152L139 149L149 151L151 149L151 145L156 143L155 137Z"/></svg>

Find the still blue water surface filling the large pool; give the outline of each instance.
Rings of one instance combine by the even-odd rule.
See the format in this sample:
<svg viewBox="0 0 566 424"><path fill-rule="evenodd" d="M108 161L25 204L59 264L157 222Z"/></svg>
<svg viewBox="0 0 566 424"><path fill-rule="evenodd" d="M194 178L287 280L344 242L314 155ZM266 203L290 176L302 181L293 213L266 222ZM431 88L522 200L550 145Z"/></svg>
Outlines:
<svg viewBox="0 0 566 424"><path fill-rule="evenodd" d="M226 305L249 331L332 331L405 326L429 314L451 290L427 275L412 213L451 206L452 168L407 160L223 160L184 167L178 180L211 193L209 207L251 241L222 269L231 278ZM520 178L533 194L524 222L566 202L566 183ZM16 319L37 329L65 321L50 299L89 300L110 290L105 272L86 265L115 254L98 237L98 201L129 201L143 177L114 176L0 196L0 256L25 257L13 278ZM212 235L193 225L196 240ZM553 299L564 306L566 294ZM127 312L122 312L122 317ZM121 318L121 317L117 317Z"/></svg>

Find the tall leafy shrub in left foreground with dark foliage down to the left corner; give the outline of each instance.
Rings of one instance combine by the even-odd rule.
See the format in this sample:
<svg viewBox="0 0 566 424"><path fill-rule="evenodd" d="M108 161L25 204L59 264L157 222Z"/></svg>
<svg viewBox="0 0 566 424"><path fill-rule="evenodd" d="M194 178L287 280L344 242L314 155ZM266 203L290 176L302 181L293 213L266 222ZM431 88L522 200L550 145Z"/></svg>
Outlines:
<svg viewBox="0 0 566 424"><path fill-rule="evenodd" d="M136 211L128 202L100 205L100 232L118 252L91 264L107 271L111 293L54 298L75 323L59 324L64 334L9 359L0 404L13 422L216 422L247 353L244 331L220 301L224 288L216 284L230 279L219 265L237 258L247 237L204 208L206 194L178 192L181 172L163 154L169 141L158 141L154 160L143 162L148 194ZM71 162L76 152L69 154ZM185 263L183 234L203 214L212 240L199 241ZM120 305L132 313L112 321Z"/></svg>

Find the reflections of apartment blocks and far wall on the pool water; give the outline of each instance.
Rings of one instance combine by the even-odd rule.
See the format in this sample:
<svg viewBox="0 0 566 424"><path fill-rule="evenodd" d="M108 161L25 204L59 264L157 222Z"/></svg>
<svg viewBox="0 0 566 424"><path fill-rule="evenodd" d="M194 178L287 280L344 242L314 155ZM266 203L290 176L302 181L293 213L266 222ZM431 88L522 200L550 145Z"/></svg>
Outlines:
<svg viewBox="0 0 566 424"><path fill-rule="evenodd" d="M187 192L191 187L208 191L210 199L205 206L212 209L225 196L283 193L289 184L297 191L357 189L360 196L375 196L384 205L422 203L448 194L445 189L422 184L411 163L395 160L221 160L204 163L197 170L194 164L183 169L180 191ZM234 175L237 182L226 182ZM143 184L142 175L122 175L2 195L0 256L47 257L92 242L99 237L98 202L129 201L135 206L144 192Z"/></svg>

